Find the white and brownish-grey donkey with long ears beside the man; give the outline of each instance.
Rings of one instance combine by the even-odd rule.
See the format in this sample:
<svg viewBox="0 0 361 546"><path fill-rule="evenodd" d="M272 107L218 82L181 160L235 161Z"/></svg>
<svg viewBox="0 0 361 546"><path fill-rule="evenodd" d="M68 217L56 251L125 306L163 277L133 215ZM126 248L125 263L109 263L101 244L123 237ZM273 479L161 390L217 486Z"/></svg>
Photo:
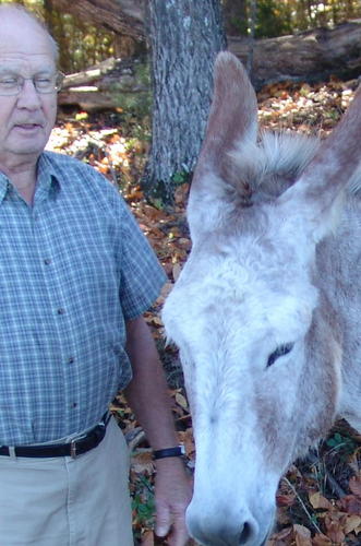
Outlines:
<svg viewBox="0 0 361 546"><path fill-rule="evenodd" d="M163 318L196 449L190 534L265 544L281 475L336 417L361 431L361 91L332 135L257 134L229 52L188 205L192 251Z"/></svg>

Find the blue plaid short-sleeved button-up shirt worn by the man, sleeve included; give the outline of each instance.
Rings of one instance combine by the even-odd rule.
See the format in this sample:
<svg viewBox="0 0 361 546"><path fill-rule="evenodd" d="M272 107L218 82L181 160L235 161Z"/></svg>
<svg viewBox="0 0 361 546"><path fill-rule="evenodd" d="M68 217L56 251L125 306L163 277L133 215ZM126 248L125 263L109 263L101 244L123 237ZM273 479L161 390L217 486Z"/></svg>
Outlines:
<svg viewBox="0 0 361 546"><path fill-rule="evenodd" d="M94 426L130 381L124 321L165 274L118 191L45 152L34 206L0 174L0 443Z"/></svg>

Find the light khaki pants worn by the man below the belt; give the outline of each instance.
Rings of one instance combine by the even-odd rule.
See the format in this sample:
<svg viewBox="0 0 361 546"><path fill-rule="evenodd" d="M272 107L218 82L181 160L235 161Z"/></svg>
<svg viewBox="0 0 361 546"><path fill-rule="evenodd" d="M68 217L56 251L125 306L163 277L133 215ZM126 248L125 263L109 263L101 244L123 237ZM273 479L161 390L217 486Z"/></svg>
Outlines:
<svg viewBox="0 0 361 546"><path fill-rule="evenodd" d="M133 546L125 440L77 459L0 456L0 546Z"/></svg>

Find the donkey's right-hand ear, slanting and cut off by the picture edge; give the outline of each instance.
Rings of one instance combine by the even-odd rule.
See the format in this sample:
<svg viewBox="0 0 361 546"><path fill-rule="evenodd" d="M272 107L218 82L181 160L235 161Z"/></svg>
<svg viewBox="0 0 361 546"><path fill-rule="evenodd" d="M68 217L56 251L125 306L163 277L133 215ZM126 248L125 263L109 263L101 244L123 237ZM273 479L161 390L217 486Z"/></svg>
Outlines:
<svg viewBox="0 0 361 546"><path fill-rule="evenodd" d="M332 134L322 142L300 179L280 198L280 205L306 222L315 241L330 233L340 215L344 190L361 174L361 86ZM352 191L352 188L349 189Z"/></svg>

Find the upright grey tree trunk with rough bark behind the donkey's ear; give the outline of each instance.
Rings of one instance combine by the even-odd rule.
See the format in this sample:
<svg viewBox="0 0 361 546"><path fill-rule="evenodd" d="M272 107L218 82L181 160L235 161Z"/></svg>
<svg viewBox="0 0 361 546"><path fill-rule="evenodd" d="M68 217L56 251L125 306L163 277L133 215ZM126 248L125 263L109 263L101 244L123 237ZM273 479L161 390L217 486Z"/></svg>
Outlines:
<svg viewBox="0 0 361 546"><path fill-rule="evenodd" d="M198 155L226 38L219 0L151 0L149 20L153 139L143 188L148 199L169 201Z"/></svg>

